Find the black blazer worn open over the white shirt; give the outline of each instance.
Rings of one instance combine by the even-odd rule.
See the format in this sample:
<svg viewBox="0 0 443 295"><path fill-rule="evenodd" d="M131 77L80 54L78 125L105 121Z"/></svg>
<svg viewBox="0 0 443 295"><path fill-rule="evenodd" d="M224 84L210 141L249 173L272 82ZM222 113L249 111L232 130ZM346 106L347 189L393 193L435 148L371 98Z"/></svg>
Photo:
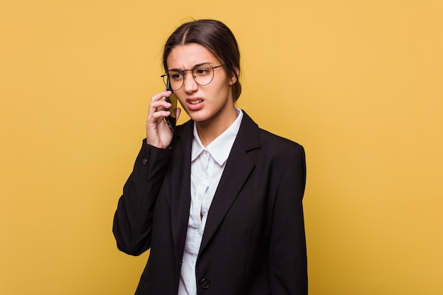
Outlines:
<svg viewBox="0 0 443 295"><path fill-rule="evenodd" d="M197 293L307 294L304 149L259 129L243 112L197 258ZM177 295L190 210L193 122L171 147L144 141L115 212L117 247L151 249L137 295Z"/></svg>

